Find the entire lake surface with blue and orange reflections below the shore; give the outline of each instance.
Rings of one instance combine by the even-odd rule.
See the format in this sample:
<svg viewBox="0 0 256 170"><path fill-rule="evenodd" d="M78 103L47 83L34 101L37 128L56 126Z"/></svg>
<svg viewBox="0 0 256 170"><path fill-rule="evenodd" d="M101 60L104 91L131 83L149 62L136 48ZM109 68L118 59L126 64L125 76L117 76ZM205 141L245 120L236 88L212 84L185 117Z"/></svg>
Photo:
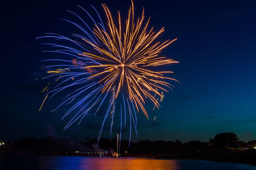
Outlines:
<svg viewBox="0 0 256 170"><path fill-rule="evenodd" d="M206 160L151 158L0 156L0 169L256 169L256 166Z"/></svg>

